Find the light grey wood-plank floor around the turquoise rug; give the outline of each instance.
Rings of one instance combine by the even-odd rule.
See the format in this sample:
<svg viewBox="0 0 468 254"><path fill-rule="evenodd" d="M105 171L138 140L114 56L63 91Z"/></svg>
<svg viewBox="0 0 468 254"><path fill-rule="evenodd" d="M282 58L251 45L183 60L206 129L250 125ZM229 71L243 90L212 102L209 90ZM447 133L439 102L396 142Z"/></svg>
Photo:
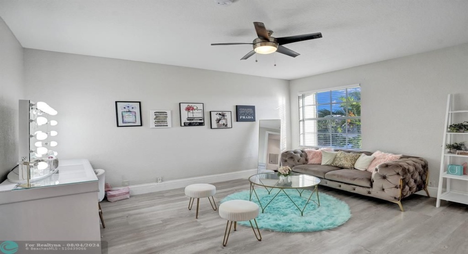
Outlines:
<svg viewBox="0 0 468 254"><path fill-rule="evenodd" d="M246 179L220 182L214 197L249 189ZM468 206L412 195L397 204L320 186L321 192L345 201L352 217L331 230L281 233L238 226L226 247L222 237L226 221L200 199L199 218L187 209L184 189L132 196L114 203L101 202L106 228L102 240L107 253L468 253ZM196 201L195 201L196 203ZM106 252L103 252L106 253Z"/></svg>

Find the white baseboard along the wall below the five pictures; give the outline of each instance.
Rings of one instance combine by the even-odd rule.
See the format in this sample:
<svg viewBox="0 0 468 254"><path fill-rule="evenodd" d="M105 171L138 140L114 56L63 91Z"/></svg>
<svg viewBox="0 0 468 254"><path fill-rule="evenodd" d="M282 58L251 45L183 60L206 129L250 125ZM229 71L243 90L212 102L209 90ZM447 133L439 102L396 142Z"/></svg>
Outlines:
<svg viewBox="0 0 468 254"><path fill-rule="evenodd" d="M248 178L257 174L257 168L254 170L243 170L237 172L230 172L230 173L223 173L217 175L209 175L203 177L193 177L193 178L186 178L186 179L178 179L178 180L171 180L165 181L162 183L150 183L150 184L141 184L141 185L132 185L130 187L130 195L138 195L138 194L145 194L151 192L159 192L159 191L166 191L166 190L173 190L179 188L185 188L187 185L191 184L211 184L217 182L224 182L224 181L231 181L236 179ZM114 188L122 189L121 188Z"/></svg>

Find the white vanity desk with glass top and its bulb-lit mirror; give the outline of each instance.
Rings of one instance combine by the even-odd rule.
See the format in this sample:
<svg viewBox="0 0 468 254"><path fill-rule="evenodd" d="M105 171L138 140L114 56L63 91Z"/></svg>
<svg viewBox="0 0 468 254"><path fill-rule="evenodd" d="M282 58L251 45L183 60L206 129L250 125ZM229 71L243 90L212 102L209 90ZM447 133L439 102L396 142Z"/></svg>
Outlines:
<svg viewBox="0 0 468 254"><path fill-rule="evenodd" d="M58 165L57 111L46 103L20 100L18 115L18 166L0 184L0 239L100 243L99 185L90 161Z"/></svg>

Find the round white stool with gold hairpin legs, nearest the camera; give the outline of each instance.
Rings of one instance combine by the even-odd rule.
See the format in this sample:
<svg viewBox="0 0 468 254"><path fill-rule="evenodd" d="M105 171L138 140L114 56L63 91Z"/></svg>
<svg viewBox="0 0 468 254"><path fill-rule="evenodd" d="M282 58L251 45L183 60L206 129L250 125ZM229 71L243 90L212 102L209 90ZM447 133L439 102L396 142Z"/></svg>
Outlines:
<svg viewBox="0 0 468 254"><path fill-rule="evenodd" d="M222 245L226 246L227 244L227 239L229 238L229 233L231 231L232 222L234 222L234 230L236 231L237 222L246 221L246 220L250 222L250 225L252 226L252 230L254 230L254 234L257 240L261 241L262 235L260 234L260 230L258 229L258 225L257 225L257 220L255 219L257 218L258 213L259 213L258 205L251 201L229 200L229 201L222 203L219 206L219 216L227 220L226 229L224 230L224 238L222 240ZM255 228L251 220L254 220L255 222L258 236L257 236L257 232L255 232ZM230 221L230 225L229 225L229 221ZM227 230L228 225L229 225L229 230Z"/></svg>

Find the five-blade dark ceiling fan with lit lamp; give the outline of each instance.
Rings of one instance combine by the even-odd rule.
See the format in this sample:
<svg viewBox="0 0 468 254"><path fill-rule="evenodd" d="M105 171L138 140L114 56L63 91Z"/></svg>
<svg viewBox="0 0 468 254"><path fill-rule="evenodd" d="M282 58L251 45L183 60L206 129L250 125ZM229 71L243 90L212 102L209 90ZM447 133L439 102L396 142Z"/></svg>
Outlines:
<svg viewBox="0 0 468 254"><path fill-rule="evenodd" d="M278 52L281 54L285 54L288 56L296 57L300 55L297 52L294 52L282 45L298 42L298 41L306 41L312 39L322 38L322 33L314 33L314 34L302 34L302 35L294 35L294 36L287 36L287 37L280 37L275 38L271 36L273 31L267 30L265 25L262 22L254 22L255 31L257 32L258 38L256 38L252 43L211 43L212 46L214 45L239 45L239 44L252 44L254 50L250 51L245 55L241 60L245 60L255 53L259 54L270 54L273 52Z"/></svg>

